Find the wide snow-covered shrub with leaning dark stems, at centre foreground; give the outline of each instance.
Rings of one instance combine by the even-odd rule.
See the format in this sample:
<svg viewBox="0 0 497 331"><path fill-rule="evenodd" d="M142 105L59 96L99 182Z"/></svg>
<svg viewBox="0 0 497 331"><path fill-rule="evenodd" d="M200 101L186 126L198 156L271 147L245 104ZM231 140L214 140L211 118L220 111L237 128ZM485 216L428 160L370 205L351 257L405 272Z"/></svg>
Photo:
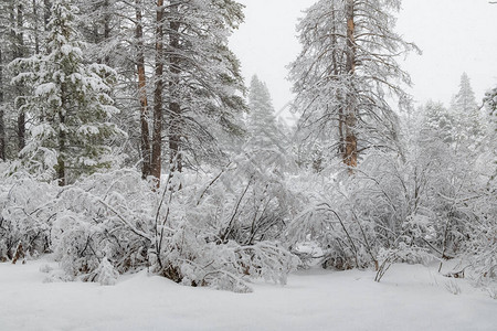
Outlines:
<svg viewBox="0 0 497 331"><path fill-rule="evenodd" d="M277 184L262 184L239 168L200 185L189 175L175 183L179 175L170 178L159 203L156 271L183 284L239 291L245 291L243 278L285 284L296 258L277 243L288 217L282 193L272 192Z"/></svg>

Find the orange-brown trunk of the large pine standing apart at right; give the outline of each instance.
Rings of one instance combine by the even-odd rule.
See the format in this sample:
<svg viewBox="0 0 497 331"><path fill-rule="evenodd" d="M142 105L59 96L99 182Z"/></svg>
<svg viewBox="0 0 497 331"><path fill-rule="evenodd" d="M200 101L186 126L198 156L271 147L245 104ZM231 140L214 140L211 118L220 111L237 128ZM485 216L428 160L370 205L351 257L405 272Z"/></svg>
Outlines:
<svg viewBox="0 0 497 331"><path fill-rule="evenodd" d="M355 41L355 21L353 21L353 2L347 0L347 61L346 71L349 79L347 99L346 99L346 148L343 153L343 162L349 167L349 173L353 173L357 167L357 96L353 90L353 78L356 73L356 41Z"/></svg>

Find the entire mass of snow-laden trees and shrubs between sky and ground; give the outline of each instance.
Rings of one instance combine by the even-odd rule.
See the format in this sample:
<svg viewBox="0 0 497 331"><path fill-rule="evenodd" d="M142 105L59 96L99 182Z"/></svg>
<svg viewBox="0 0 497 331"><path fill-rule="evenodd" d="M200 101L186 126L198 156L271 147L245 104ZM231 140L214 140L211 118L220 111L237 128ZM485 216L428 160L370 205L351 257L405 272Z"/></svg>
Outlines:
<svg viewBox="0 0 497 331"><path fill-rule="evenodd" d="M242 97L236 1L21 2L0 4L1 260L51 252L47 281L147 269L243 292L285 284L295 255L378 281L394 263L462 258L496 284L496 90L485 117L464 74L448 107L412 113L400 0L305 12L298 130L257 78Z"/></svg>

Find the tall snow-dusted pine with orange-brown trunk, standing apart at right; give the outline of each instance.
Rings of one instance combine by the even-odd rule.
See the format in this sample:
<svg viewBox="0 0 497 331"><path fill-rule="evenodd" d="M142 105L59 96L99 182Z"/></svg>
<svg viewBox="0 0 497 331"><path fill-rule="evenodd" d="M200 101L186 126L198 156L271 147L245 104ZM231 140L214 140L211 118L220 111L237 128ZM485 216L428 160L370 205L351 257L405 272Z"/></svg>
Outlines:
<svg viewBox="0 0 497 331"><path fill-rule="evenodd" d="M411 81L396 57L416 50L393 32L400 6L400 0L320 0L297 28L303 51L290 78L299 127L310 139L325 135L328 153L338 151L349 169L361 151L395 147L398 118L387 97L408 104L401 84Z"/></svg>

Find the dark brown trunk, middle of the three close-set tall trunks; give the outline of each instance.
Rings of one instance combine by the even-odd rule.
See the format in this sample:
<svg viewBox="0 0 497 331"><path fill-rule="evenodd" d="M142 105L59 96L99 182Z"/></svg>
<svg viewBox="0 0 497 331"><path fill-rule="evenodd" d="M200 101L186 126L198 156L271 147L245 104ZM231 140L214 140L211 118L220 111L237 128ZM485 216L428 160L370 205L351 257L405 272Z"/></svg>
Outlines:
<svg viewBox="0 0 497 331"><path fill-rule="evenodd" d="M151 175L160 184L162 167L162 89L163 89L163 0L157 0L156 19L156 73L154 92L154 136L151 154Z"/></svg>

